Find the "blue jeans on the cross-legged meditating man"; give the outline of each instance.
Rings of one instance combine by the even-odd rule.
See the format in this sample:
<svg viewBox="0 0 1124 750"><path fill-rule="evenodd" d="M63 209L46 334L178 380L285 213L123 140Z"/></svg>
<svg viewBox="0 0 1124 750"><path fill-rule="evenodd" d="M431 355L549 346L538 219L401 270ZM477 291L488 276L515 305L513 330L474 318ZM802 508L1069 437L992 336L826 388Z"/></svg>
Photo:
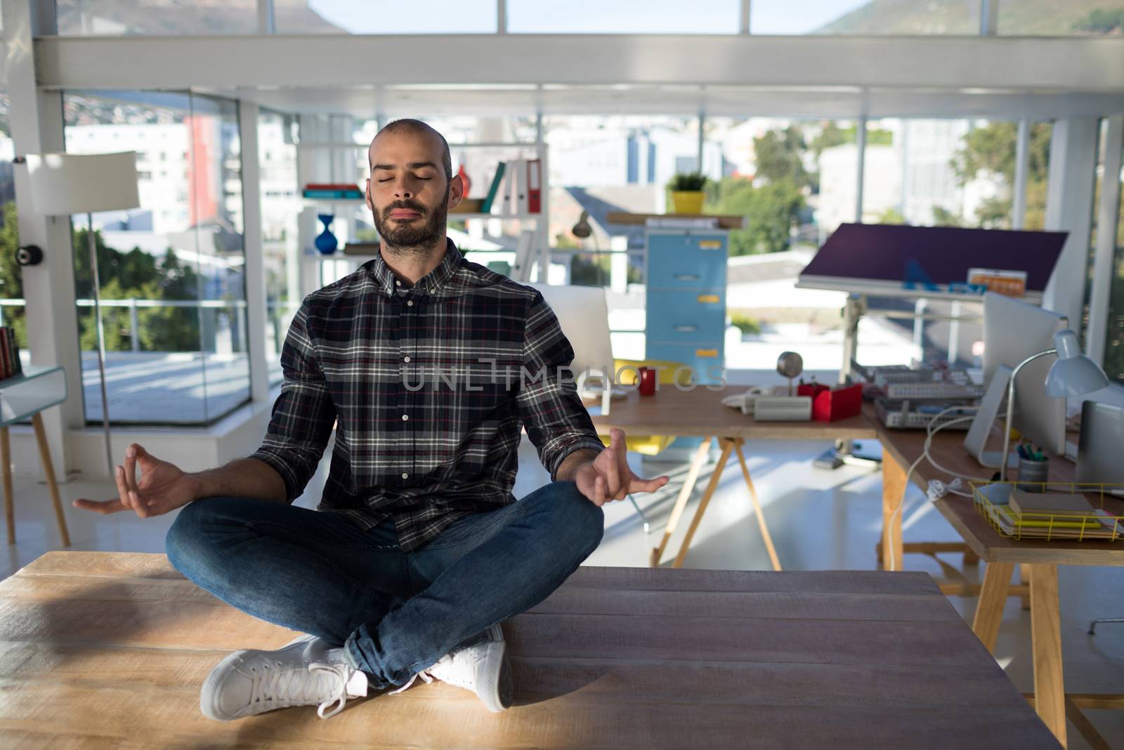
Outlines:
<svg viewBox="0 0 1124 750"><path fill-rule="evenodd" d="M382 689L545 599L604 528L601 508L572 481L457 518L411 552L389 518L364 532L336 513L207 497L180 509L167 557L238 609L344 645Z"/></svg>

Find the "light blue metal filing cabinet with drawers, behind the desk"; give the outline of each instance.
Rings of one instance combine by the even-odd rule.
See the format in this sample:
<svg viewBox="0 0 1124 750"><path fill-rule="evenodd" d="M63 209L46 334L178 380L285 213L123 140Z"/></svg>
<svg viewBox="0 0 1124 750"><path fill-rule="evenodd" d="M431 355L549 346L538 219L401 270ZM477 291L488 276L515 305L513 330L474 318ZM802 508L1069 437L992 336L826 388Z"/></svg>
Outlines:
<svg viewBox="0 0 1124 750"><path fill-rule="evenodd" d="M698 387L717 383L726 337L726 256L722 229L649 228L645 283L645 358L695 368ZM671 449L698 446L679 437Z"/></svg>

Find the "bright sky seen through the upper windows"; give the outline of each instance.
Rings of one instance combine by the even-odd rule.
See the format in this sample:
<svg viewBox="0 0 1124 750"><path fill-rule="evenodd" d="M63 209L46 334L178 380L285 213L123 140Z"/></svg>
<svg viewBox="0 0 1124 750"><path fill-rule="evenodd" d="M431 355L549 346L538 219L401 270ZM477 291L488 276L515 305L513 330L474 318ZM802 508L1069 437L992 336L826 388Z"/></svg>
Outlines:
<svg viewBox="0 0 1124 750"><path fill-rule="evenodd" d="M870 0L752 0L756 34L806 34ZM308 0L352 34L491 33L495 0ZM736 34L738 0L507 0L513 33ZM280 31L298 29L278 29Z"/></svg>

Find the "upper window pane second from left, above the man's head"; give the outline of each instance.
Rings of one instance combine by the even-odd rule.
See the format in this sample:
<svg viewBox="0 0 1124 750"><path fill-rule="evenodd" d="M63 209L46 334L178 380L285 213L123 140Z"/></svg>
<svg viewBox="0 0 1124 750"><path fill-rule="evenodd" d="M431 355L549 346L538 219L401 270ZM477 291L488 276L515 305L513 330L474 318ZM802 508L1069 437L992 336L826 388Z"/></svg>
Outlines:
<svg viewBox="0 0 1124 750"><path fill-rule="evenodd" d="M495 0L273 0L279 34L490 34Z"/></svg>

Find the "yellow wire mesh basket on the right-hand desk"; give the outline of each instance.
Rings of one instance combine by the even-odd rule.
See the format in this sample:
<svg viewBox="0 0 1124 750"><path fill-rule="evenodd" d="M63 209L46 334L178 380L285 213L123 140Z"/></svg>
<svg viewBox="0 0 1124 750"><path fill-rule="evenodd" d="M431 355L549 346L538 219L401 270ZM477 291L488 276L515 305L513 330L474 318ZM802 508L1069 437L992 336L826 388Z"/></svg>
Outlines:
<svg viewBox="0 0 1124 750"><path fill-rule="evenodd" d="M1004 536L1068 541L1115 542L1124 532L1124 485L1102 482L969 482L972 500L984 518ZM1016 489L1033 487L1036 493L1082 495L1093 513L1072 510L1019 512L1010 507Z"/></svg>

